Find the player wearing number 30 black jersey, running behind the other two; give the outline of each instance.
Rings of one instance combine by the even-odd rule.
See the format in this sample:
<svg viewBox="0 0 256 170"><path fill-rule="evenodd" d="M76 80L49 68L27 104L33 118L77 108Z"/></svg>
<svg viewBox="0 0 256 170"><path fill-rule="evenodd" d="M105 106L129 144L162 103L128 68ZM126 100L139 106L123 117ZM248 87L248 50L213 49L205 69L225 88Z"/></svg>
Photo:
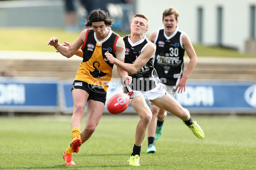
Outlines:
<svg viewBox="0 0 256 170"><path fill-rule="evenodd" d="M162 80L160 85L172 96L182 93L186 89L187 79L195 68L197 56L189 36L179 29L179 13L171 7L163 11L163 26L153 31L148 39L157 46L154 57L154 68ZM189 56L189 64L184 72L184 53ZM147 153L155 153L154 141L163 132L163 121L166 118L166 111L155 105L151 106L152 121L148 126L148 149ZM158 119L157 119L158 118ZM186 123L191 125L192 122Z"/></svg>

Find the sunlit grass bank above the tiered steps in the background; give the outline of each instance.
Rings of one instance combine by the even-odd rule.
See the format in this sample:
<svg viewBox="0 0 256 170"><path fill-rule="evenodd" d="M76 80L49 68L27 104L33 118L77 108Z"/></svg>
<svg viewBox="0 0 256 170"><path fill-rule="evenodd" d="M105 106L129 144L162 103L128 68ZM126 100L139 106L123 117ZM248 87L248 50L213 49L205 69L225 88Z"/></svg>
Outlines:
<svg viewBox="0 0 256 170"><path fill-rule="evenodd" d="M126 33L117 32L122 37ZM64 41L74 42L79 36L78 33L67 33L64 29L58 28L24 28L10 27L0 28L0 50L11 51L53 51L47 43L51 37L57 37L60 43ZM214 57L249 57L255 58L253 54L241 54L237 50L209 47L204 45L193 44L198 56L214 56Z"/></svg>

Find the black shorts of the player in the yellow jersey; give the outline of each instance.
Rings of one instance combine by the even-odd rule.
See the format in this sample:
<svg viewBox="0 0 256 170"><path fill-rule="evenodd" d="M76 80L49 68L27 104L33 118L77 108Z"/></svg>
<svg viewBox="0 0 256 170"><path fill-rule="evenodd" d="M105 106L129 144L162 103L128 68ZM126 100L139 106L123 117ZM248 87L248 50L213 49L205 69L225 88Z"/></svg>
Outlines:
<svg viewBox="0 0 256 170"><path fill-rule="evenodd" d="M82 89L89 94L88 100L92 99L104 103L106 102L107 92L99 85L90 85L87 82L75 80L71 91L74 89Z"/></svg>

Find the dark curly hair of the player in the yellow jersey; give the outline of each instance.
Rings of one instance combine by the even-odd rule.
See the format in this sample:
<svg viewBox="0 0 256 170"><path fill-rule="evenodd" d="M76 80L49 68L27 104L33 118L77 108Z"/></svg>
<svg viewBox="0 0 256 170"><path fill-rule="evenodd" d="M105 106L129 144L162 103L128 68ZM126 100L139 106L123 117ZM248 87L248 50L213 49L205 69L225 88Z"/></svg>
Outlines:
<svg viewBox="0 0 256 170"><path fill-rule="evenodd" d="M89 20L87 20L86 23L84 24L84 26L86 26L86 27L91 27L92 23L95 23L95 22L104 21L104 23L107 26L111 26L114 23L114 19L110 19L108 17L108 12L105 12L105 11L101 10L100 8L93 10L90 13L88 19Z"/></svg>

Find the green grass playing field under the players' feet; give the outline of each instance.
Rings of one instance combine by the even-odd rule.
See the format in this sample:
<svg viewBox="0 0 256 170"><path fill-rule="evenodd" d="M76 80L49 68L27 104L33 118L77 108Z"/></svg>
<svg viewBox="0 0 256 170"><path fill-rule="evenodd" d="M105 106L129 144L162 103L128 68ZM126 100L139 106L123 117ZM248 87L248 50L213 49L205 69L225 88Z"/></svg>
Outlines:
<svg viewBox="0 0 256 170"><path fill-rule="evenodd" d="M192 116L193 118L193 116ZM147 154L147 135L140 167L129 159L139 116L103 115L93 136L74 153L75 167L62 153L71 142L70 116L0 118L1 170L255 170L256 117L194 116L205 133L196 138L175 116L168 115L157 153ZM85 119L82 120L84 125ZM83 127L83 126L82 126Z"/></svg>

